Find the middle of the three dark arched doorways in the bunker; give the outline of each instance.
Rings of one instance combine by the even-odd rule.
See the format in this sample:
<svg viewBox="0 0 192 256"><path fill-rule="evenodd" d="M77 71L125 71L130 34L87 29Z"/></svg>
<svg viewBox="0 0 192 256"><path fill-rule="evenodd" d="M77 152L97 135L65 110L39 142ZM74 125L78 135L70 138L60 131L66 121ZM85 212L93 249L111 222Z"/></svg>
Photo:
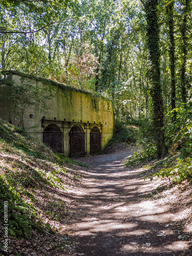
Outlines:
<svg viewBox="0 0 192 256"><path fill-rule="evenodd" d="M84 132L80 125L73 125L70 131L70 156L84 155Z"/></svg>

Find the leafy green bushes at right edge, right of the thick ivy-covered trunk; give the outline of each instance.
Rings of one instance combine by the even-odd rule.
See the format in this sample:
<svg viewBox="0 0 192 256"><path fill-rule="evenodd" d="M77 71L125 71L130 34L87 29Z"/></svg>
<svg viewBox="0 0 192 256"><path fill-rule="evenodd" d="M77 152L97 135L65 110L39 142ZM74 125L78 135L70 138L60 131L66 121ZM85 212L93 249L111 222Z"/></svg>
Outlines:
<svg viewBox="0 0 192 256"><path fill-rule="evenodd" d="M173 123L172 117L176 113L176 120ZM154 176L169 178L172 182L181 182L185 179L191 179L192 165L192 103L181 104L179 108L173 109L166 115L166 133L165 138L169 146L169 154L179 154L177 163L164 161L164 168L154 174ZM174 165L174 166L173 166ZM168 167L167 167L168 166Z"/></svg>

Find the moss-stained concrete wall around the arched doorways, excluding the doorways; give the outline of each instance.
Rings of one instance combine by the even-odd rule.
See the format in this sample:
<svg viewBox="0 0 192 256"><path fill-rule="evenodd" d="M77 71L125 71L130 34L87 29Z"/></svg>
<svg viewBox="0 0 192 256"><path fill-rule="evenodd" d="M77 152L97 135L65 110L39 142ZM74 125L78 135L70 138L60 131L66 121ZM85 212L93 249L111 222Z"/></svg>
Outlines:
<svg viewBox="0 0 192 256"><path fill-rule="evenodd" d="M101 149L108 143L113 135L113 108L112 102L104 97L94 96L83 90L63 84L21 74L11 71L5 80L5 86L0 88L0 117L5 118L14 125L18 125L18 117L13 113L11 102L4 96L10 86L28 83L36 84L39 88L52 87L52 96L46 100L48 113L39 112L37 108L26 106L23 117L23 125L32 137L43 141L43 132L50 124L56 124L62 132L62 153L70 156L70 131L73 125L80 127L84 133L85 152L90 154L90 132L93 127L98 127L101 133ZM2 82L3 84L3 82ZM10 85L9 85L10 84ZM30 92L29 92L30 93ZM48 93L48 92L46 92ZM35 99L34 99L35 100ZM19 111L19 110L18 110ZM45 142L45 141L44 141Z"/></svg>

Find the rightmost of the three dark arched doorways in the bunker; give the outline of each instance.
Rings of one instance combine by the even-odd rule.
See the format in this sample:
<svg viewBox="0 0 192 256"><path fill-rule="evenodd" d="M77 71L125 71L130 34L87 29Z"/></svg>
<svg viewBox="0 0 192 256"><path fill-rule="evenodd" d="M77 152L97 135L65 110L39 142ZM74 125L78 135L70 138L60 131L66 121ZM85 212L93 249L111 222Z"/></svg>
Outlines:
<svg viewBox="0 0 192 256"><path fill-rule="evenodd" d="M99 153L101 153L101 132L97 126L94 126L90 133L90 154Z"/></svg>

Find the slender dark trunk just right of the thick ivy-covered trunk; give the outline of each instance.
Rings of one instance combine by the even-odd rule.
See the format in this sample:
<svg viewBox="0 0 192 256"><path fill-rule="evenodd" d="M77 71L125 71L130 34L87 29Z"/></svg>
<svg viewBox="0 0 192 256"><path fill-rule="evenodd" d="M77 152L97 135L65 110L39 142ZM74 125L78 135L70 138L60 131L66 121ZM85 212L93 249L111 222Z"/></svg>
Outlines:
<svg viewBox="0 0 192 256"><path fill-rule="evenodd" d="M170 40L169 58L170 58L170 76L171 76L171 104L172 110L175 109L175 39L174 39L174 0L167 3L168 15L168 34ZM173 114L173 121L176 121L176 112Z"/></svg>

